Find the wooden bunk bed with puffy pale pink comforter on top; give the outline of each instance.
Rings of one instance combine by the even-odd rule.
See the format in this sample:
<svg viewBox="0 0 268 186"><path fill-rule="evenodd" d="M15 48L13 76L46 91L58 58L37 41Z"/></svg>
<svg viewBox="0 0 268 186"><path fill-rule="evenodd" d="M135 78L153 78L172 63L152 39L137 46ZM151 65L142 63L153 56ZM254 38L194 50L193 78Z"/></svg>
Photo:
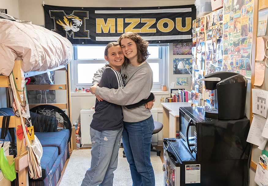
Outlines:
<svg viewBox="0 0 268 186"><path fill-rule="evenodd" d="M72 44L61 35L33 24L23 24L8 19L0 19L0 87L9 87L8 77L13 73L15 84L20 85L25 77L46 73L55 69L66 71L66 84L28 86L29 90L60 90L67 92L67 103L59 106L67 109L70 117L70 80L68 66L73 55ZM20 89L20 88L19 88ZM14 90L17 97L22 91ZM31 108L36 105L30 106ZM0 116L2 126L2 116ZM20 117L11 116L9 128L21 125ZM74 135L75 136L75 135ZM17 147L22 140L16 135ZM72 142L72 140L71 140ZM76 145L75 145L76 146ZM22 145L22 152L26 146ZM29 185L28 167L18 173L20 186Z"/></svg>

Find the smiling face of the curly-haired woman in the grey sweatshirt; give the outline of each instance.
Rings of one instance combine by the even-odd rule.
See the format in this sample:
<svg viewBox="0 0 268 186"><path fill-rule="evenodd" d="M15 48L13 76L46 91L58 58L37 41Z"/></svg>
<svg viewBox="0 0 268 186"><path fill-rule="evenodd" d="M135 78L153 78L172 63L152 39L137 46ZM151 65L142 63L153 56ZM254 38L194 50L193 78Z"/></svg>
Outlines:
<svg viewBox="0 0 268 186"><path fill-rule="evenodd" d="M132 39L123 38L121 40L121 48L124 56L129 59L130 63L137 63L138 60L137 45Z"/></svg>

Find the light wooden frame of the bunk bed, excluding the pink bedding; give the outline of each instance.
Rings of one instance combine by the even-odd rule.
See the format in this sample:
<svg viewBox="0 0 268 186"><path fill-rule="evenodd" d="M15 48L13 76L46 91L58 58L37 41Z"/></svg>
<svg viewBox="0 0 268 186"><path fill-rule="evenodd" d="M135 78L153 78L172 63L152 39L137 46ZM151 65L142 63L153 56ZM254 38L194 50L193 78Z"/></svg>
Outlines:
<svg viewBox="0 0 268 186"><path fill-rule="evenodd" d="M66 95L67 95L67 102L66 103L54 103L54 104L50 104L50 105L54 105L59 107L60 109L67 109L67 115L71 120L71 112L70 112L70 74L69 74L69 64L66 66L60 66L58 69L56 70L65 70L66 71L66 84L53 84L53 85L48 85L48 84L43 84L43 85L27 85L26 89L27 90L66 90ZM29 76L34 76L37 74L41 74L41 73L46 73L48 71L52 71L55 69L51 69L51 70L47 70L47 71L43 71L43 72L36 72L36 71L32 71L29 73L25 73L25 77L29 77ZM22 81L22 77L21 77L21 71L23 71L22 69L22 60L15 60L14 63L14 67L13 67L13 75L15 78L15 83L16 84L21 84ZM4 75L0 75L0 87L8 87L8 76L4 76ZM60 88L62 87L62 88ZM16 95L17 97L19 97L21 94L21 92L16 91ZM8 100L9 102L9 100ZM41 104L29 104L29 108L33 108L37 105L41 105ZM0 126L2 126L2 118L3 116L0 116ZM20 117L15 117L15 116L11 116L10 117L10 122L9 122L9 128L16 128L16 130L18 129L17 126L21 125L21 119ZM74 137L73 137L74 136ZM17 139L17 147L21 147L21 143L23 143L23 140L19 140L17 135L16 135L16 139ZM73 128L72 131L72 138L70 141L70 145L69 145L69 150L72 151L73 149L76 149L76 139L75 139L75 129ZM25 152L26 146L22 146L22 152ZM66 162L67 163L67 162ZM19 186L28 186L28 167L23 169L22 171L20 171L18 173L18 181L19 181Z"/></svg>

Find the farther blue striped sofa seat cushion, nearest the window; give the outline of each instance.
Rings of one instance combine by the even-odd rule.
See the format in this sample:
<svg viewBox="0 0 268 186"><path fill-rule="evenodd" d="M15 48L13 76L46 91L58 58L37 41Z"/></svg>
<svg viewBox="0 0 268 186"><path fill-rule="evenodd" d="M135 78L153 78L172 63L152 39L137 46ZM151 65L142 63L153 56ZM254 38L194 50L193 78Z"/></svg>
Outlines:
<svg viewBox="0 0 268 186"><path fill-rule="evenodd" d="M69 138L69 130L62 129L57 132L35 132L42 147L58 147L59 154L62 153Z"/></svg>

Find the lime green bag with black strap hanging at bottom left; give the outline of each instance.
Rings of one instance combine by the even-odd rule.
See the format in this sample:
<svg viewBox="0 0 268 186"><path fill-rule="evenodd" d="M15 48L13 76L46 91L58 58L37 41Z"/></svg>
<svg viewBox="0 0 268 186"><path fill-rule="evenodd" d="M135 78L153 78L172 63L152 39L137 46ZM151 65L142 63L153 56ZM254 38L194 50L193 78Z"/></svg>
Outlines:
<svg viewBox="0 0 268 186"><path fill-rule="evenodd" d="M8 126L9 126L9 119L10 119L10 116L3 116L1 139L6 138L7 130L8 130ZM5 140L4 140L4 142L5 142ZM7 180L13 181L16 179L15 166L14 166L14 162L9 166L9 162L6 159L5 151L3 148L4 142L2 144L2 147L0 148L0 170L3 173L3 176Z"/></svg>

